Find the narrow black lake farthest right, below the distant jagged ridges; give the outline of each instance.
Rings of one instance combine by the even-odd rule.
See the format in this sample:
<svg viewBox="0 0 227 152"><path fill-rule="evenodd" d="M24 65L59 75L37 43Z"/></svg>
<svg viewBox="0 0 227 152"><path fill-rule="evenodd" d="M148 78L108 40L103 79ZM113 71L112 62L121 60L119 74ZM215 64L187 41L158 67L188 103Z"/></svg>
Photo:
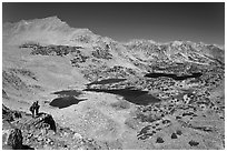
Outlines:
<svg viewBox="0 0 227 152"><path fill-rule="evenodd" d="M145 77L148 77L148 78L159 78L159 77L168 77L168 78L172 78L174 80L186 80L186 79L189 79L189 78L199 78L201 77L203 73L193 73L193 74L188 74L188 75L177 75L177 74L171 74L171 73L148 73L146 74Z"/></svg>

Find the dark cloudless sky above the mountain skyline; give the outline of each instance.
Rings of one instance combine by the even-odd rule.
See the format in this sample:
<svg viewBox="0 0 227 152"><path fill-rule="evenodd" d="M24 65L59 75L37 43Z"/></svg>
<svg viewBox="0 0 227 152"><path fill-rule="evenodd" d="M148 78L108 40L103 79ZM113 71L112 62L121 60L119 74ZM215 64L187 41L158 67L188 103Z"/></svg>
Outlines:
<svg viewBox="0 0 227 152"><path fill-rule="evenodd" d="M117 41L188 40L225 44L224 2L2 3L2 22L57 16L73 28Z"/></svg>

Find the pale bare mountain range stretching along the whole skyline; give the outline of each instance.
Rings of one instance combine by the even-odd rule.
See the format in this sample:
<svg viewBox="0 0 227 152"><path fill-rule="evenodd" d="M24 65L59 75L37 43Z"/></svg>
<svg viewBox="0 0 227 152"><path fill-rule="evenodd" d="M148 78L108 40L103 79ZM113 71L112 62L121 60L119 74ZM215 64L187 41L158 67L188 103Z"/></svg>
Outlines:
<svg viewBox="0 0 227 152"><path fill-rule="evenodd" d="M184 53L187 58L188 51L199 54L221 58L224 51L215 44L195 43L190 41L174 41L169 43L157 43L151 40L131 40L127 43L119 43L110 38L92 33L88 29L69 27L58 17L45 19L21 20L17 23L3 24L3 39L10 43L22 44L24 42L39 42L41 44L65 44L65 45L96 45L103 43L117 43L129 51L138 53L164 53L166 55ZM179 54L180 55L180 54Z"/></svg>

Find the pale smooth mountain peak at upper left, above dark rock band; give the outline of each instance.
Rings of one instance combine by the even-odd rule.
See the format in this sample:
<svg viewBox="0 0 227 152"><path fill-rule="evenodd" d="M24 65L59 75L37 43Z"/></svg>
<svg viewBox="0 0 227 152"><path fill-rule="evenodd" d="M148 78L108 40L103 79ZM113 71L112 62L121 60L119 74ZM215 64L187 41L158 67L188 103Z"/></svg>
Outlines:
<svg viewBox="0 0 227 152"><path fill-rule="evenodd" d="M43 19L21 20L16 23L3 24L3 37L9 43L23 43L37 41L39 43L63 44L88 39L95 41L98 36L89 29L71 28L57 16Z"/></svg>

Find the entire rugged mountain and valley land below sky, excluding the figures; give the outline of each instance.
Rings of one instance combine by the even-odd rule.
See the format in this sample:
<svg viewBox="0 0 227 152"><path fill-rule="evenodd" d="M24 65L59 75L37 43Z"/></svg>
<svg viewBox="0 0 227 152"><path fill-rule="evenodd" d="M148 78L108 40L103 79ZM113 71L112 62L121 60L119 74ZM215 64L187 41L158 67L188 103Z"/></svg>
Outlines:
<svg viewBox="0 0 227 152"><path fill-rule="evenodd" d="M124 43L57 17L2 32L3 149L225 149L224 48Z"/></svg>

